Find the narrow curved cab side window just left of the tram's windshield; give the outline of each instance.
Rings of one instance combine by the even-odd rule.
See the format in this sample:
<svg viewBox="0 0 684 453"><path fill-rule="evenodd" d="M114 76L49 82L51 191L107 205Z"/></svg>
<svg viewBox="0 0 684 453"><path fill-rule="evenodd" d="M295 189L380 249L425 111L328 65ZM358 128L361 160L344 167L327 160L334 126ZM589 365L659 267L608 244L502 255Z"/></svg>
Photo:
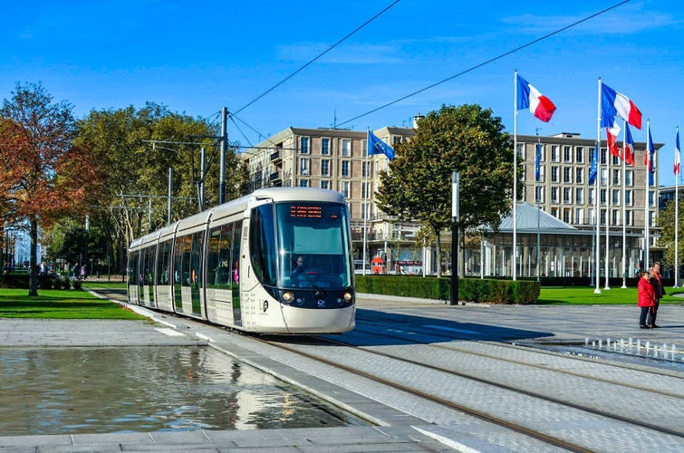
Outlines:
<svg viewBox="0 0 684 453"><path fill-rule="evenodd" d="M275 230L273 205L252 209L249 251L255 275L262 284L275 285Z"/></svg>

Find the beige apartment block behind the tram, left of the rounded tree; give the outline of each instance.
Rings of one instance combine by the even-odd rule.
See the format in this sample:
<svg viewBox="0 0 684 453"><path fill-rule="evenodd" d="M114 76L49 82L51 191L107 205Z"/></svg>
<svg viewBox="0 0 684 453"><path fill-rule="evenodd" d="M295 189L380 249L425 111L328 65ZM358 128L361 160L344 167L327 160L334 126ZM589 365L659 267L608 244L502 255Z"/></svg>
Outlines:
<svg viewBox="0 0 684 453"><path fill-rule="evenodd" d="M390 146L415 135L412 128L390 126L372 132ZM388 168L388 159L382 154L368 155L365 131L290 127L247 149L242 156L249 162L253 190L298 186L341 192L349 205L358 259L363 256L365 243L368 260L387 259L391 268L392 240L409 241L419 227L412 223L395 225L394 219L376 206L373 194L380 184L380 171ZM397 253L394 256L400 258Z"/></svg>

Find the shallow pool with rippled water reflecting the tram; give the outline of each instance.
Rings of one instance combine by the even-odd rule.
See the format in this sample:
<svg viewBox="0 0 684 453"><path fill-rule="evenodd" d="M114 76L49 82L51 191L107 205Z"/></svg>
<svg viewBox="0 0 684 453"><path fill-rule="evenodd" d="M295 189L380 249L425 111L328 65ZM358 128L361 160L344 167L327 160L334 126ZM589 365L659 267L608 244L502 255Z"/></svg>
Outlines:
<svg viewBox="0 0 684 453"><path fill-rule="evenodd" d="M5 436L364 423L210 348L0 348L0 401Z"/></svg>

